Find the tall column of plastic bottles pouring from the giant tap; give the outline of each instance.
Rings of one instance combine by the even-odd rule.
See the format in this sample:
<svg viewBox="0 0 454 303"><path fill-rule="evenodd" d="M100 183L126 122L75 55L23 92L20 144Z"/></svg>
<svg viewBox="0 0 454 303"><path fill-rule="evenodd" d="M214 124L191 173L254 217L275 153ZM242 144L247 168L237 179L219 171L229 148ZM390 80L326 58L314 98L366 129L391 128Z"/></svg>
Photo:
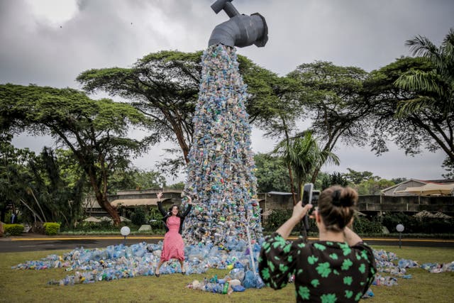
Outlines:
<svg viewBox="0 0 454 303"><path fill-rule="evenodd" d="M212 45L201 58L194 140L184 194L194 207L184 222L188 243L223 246L226 237L262 238L254 176L248 94L238 70L236 48ZM183 208L186 201L182 201Z"/></svg>

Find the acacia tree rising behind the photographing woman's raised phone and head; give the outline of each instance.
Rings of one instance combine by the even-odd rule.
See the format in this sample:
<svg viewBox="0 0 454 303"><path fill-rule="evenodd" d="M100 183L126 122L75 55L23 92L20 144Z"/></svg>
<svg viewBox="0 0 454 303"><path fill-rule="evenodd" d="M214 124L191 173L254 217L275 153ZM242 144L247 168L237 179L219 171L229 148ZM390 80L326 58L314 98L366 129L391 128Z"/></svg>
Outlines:
<svg viewBox="0 0 454 303"><path fill-rule="evenodd" d="M304 107L312 121L311 131L321 142L323 152L333 152L339 141L348 145L367 143L370 106L362 96L367 72L359 67L340 67L332 62L316 61L299 65L288 77L304 89ZM321 165L314 169L316 181Z"/></svg>

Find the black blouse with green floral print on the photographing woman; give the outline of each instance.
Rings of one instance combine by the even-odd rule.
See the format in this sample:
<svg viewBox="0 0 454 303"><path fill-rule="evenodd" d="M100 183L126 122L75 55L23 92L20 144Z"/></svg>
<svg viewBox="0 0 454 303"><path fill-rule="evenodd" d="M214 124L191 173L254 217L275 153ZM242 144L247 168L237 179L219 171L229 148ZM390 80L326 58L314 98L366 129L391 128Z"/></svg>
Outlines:
<svg viewBox="0 0 454 303"><path fill-rule="evenodd" d="M295 275L297 302L358 302L374 281L372 249L360 242L288 242L279 233L262 243L259 272L266 285L279 290Z"/></svg>

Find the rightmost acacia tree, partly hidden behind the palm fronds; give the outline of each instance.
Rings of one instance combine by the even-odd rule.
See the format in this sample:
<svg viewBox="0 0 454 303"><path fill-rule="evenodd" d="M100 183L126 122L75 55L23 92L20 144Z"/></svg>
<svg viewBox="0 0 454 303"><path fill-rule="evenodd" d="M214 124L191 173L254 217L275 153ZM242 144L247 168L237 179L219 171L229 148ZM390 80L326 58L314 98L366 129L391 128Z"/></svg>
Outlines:
<svg viewBox="0 0 454 303"><path fill-rule="evenodd" d="M368 98L374 104L372 150L381 155L388 150L387 141L393 141L407 155L441 149L447 159L453 161L454 113L447 111L448 103L439 99L441 94L397 85L398 79L404 79L402 75L416 71L419 75L433 74L436 68L421 57L402 57L371 72L365 82L365 90L370 94ZM450 85L453 87L452 83ZM448 88L441 85L439 89L443 87ZM453 95L452 88L450 94ZM432 101L426 103L425 99Z"/></svg>

